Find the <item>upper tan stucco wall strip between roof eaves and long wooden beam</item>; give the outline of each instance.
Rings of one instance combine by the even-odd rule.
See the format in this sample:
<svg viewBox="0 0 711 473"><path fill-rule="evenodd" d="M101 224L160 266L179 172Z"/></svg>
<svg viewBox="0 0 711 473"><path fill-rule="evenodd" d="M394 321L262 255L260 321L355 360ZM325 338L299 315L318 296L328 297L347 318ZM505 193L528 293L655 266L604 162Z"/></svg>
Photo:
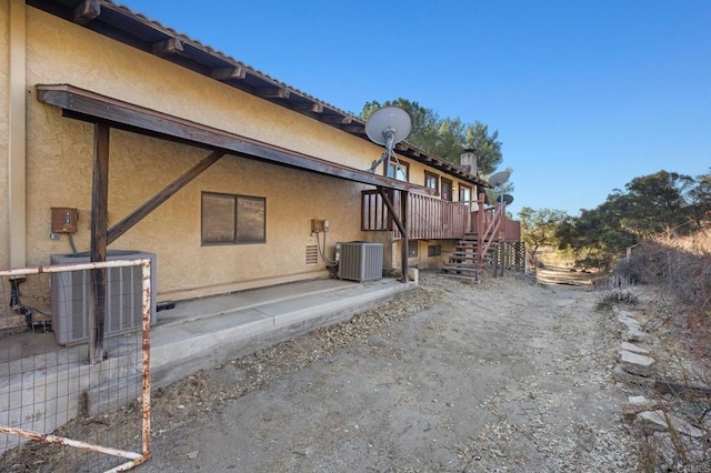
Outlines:
<svg viewBox="0 0 711 473"><path fill-rule="evenodd" d="M360 169L380 155L364 140L34 9L28 36L30 83L71 83Z"/></svg>

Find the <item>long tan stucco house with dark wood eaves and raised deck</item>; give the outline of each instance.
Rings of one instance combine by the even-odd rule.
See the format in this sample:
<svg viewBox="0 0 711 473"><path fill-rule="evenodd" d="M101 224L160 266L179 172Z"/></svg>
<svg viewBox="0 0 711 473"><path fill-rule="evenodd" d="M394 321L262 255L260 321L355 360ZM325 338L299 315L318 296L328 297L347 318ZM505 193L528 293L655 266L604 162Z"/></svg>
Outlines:
<svg viewBox="0 0 711 473"><path fill-rule="evenodd" d="M339 242L438 268L488 187L407 142L370 172L363 121L112 1L0 24L0 268L140 250L159 301L329 276Z"/></svg>

